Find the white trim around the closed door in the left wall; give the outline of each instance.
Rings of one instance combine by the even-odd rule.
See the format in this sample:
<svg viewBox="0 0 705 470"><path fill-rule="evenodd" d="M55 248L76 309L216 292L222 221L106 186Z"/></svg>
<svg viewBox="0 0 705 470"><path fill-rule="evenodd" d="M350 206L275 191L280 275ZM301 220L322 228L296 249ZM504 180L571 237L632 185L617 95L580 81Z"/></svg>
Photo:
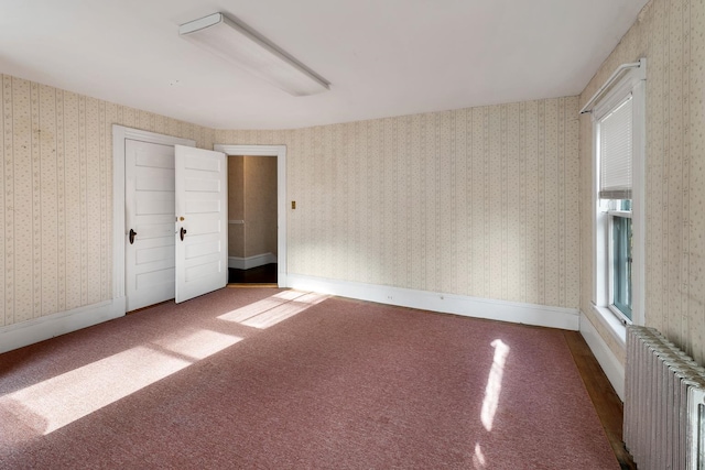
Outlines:
<svg viewBox="0 0 705 470"><path fill-rule="evenodd" d="M124 140L196 146L191 139L112 124L112 298L124 299ZM127 305L127 304L122 304Z"/></svg>

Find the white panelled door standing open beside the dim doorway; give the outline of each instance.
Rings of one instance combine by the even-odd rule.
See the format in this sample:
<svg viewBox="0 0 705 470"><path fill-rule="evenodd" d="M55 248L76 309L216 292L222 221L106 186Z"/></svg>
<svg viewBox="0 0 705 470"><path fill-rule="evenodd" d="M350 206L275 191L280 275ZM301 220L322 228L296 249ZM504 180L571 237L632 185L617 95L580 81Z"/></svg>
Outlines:
<svg viewBox="0 0 705 470"><path fill-rule="evenodd" d="M225 287L228 207L225 153L175 146L176 303Z"/></svg>

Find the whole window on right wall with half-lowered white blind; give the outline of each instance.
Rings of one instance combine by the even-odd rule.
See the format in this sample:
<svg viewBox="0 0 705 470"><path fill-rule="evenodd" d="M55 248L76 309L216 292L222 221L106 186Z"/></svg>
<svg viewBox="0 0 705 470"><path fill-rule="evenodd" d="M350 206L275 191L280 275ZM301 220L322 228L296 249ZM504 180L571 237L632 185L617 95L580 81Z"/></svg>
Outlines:
<svg viewBox="0 0 705 470"><path fill-rule="evenodd" d="M593 300L622 324L643 324L644 66L628 70L593 109Z"/></svg>

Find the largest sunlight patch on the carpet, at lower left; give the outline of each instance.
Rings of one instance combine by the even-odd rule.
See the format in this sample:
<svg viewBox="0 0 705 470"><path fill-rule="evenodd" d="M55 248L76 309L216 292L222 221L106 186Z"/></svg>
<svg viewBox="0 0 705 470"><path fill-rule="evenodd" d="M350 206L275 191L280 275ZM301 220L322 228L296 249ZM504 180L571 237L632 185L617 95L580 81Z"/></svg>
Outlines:
<svg viewBox="0 0 705 470"><path fill-rule="evenodd" d="M138 346L6 395L0 407L12 405L18 420L47 435L241 339L200 330Z"/></svg>

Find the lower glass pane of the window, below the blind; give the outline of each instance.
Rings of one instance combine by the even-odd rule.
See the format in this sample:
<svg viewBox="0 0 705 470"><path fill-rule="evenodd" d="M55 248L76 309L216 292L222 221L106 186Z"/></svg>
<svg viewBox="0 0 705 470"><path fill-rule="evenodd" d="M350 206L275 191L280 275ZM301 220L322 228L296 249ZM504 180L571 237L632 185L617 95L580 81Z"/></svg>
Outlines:
<svg viewBox="0 0 705 470"><path fill-rule="evenodd" d="M612 304L631 319L631 219L612 218Z"/></svg>

